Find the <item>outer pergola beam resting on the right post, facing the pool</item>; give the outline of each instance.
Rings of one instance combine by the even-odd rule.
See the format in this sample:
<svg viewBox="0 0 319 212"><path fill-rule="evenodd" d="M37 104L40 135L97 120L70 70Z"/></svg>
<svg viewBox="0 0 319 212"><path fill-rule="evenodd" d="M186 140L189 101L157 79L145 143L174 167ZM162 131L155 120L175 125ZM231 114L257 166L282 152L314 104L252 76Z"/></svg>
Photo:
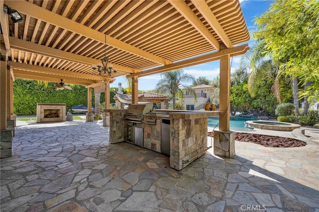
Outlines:
<svg viewBox="0 0 319 212"><path fill-rule="evenodd" d="M163 72L167 72L167 71L171 71L171 70L175 70L175 69L185 68L188 66L194 66L194 65L198 65L198 64L202 64L202 63L208 63L208 62L212 62L215 60L219 60L219 58L221 56L224 56L224 55L230 55L230 57L242 55L242 54L245 54L248 50L249 50L248 44L244 44L244 45L236 46L233 48L224 49L224 50L221 50L218 52L206 54L203 56L195 57L192 59L183 60L183 61L169 64L166 66L160 66L158 68L149 69L147 71L143 71L143 72L139 72L139 73L135 73L135 74L130 74L130 75L127 75L127 77L128 78L145 77L145 76L149 76L149 75L153 75L153 74L159 74L159 73L163 73Z"/></svg>

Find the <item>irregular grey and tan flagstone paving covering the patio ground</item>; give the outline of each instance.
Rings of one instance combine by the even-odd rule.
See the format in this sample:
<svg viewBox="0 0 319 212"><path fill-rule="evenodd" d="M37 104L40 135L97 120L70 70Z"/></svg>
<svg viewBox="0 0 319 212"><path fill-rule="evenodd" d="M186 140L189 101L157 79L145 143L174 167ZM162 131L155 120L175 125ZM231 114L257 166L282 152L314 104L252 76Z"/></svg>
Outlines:
<svg viewBox="0 0 319 212"><path fill-rule="evenodd" d="M319 212L319 130L306 135L295 148L236 141L234 159L209 149L176 171L168 156L109 144L102 121L17 121L14 155L0 160L0 211Z"/></svg>

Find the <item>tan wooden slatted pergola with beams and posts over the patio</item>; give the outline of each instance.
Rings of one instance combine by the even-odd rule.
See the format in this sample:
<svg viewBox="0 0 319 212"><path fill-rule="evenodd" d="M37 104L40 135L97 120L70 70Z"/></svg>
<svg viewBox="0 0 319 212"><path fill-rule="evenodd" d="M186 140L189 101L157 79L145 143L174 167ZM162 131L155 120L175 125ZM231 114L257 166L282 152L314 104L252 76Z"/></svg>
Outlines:
<svg viewBox="0 0 319 212"><path fill-rule="evenodd" d="M5 6L23 21L13 23ZM250 39L238 0L0 0L0 24L1 130L13 115L15 78L84 85L90 110L92 88L109 94L116 77L132 78L137 103L140 77L215 60L220 116L229 117L229 58ZM110 76L92 69L105 53L117 70ZM229 118L220 129L229 130Z"/></svg>

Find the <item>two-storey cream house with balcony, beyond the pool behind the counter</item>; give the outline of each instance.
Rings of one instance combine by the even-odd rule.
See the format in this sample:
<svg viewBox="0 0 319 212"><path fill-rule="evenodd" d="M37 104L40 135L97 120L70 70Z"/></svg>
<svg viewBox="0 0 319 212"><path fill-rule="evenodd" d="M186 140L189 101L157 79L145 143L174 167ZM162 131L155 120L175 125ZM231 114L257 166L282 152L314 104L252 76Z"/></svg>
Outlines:
<svg viewBox="0 0 319 212"><path fill-rule="evenodd" d="M187 110L200 110L210 102L210 95L215 90L215 87L209 85L198 85L192 87L197 95L196 99L190 95L188 91L184 92L184 98L179 99L179 103L184 105Z"/></svg>

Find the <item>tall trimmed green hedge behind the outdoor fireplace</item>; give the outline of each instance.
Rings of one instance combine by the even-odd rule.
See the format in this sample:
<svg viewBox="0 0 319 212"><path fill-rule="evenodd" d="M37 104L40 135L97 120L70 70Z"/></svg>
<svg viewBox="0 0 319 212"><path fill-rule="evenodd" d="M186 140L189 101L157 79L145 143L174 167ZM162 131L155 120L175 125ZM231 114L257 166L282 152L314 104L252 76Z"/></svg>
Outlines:
<svg viewBox="0 0 319 212"><path fill-rule="evenodd" d="M37 103L63 103L66 104L66 110L72 106L87 106L87 89L84 86L69 85L72 91L63 89L49 89L57 83L48 83L48 87L38 86L35 80L15 79L13 82L13 112L16 115L35 115ZM115 103L113 96L118 90L110 88L110 102ZM126 93L125 89L122 89ZM100 103L105 102L105 94L101 93ZM92 89L92 106L95 104L95 97Z"/></svg>

